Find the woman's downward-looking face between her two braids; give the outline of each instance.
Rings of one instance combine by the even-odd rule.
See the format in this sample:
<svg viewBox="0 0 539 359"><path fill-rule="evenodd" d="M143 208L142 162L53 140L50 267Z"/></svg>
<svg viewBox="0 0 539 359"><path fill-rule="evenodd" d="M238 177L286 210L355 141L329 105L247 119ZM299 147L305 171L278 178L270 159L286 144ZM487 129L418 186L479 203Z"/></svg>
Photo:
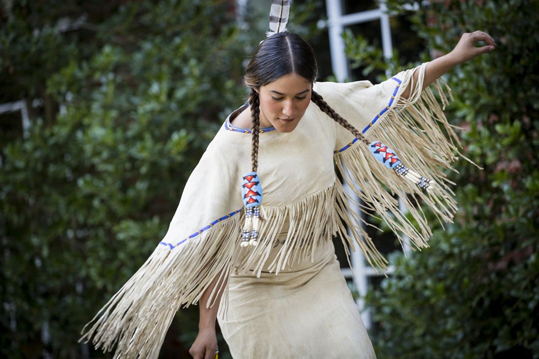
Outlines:
<svg viewBox="0 0 539 359"><path fill-rule="evenodd" d="M273 126L292 132L310 103L312 84L296 74L288 74L260 86L260 127Z"/></svg>

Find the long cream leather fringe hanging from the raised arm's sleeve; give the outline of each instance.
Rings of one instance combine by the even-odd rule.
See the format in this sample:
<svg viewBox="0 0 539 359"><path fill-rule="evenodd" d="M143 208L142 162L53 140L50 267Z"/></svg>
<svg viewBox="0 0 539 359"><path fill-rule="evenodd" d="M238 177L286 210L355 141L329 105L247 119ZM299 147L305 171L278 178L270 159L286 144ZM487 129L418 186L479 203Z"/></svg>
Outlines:
<svg viewBox="0 0 539 359"><path fill-rule="evenodd" d="M418 84L423 83L425 68L426 63L417 68ZM438 79L421 91L420 86L414 86L412 74L412 71L407 73L400 90L402 93L407 86L412 86L414 90L409 98L398 98L395 107L369 131L368 136L391 146L405 166L436 181L438 186L427 192L405 180L378 163L360 141L335 156L338 171L352 191L351 194L341 189L337 191L338 212L356 241L364 238L360 248L376 272L377 268L385 271L388 262L362 230L361 223L366 223L362 213L381 217L401 245L406 244L403 240L406 236L415 247L411 247L412 250L429 247L427 241L432 231L421 205L432 210L442 227L443 222L452 223L458 206L450 188L455 184L447 178L445 171L458 173L451 163L459 157L474 164L459 152L462 146L455 133L458 127L448 123L443 112L448 96L453 99L451 89L445 85L446 94L443 80ZM432 88L437 90L442 107ZM404 203L408 214L399 208L397 198ZM354 208L360 208L360 212Z"/></svg>

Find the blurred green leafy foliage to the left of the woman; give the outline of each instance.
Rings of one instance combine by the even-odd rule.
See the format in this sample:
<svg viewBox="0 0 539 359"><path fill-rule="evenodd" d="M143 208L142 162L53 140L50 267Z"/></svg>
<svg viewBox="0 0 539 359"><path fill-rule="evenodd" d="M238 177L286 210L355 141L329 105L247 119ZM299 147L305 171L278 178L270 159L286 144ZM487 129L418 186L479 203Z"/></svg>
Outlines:
<svg viewBox="0 0 539 359"><path fill-rule="evenodd" d="M63 5L14 4L0 30L0 66L12 69L2 83L23 79L23 96L61 109L2 145L3 357L82 356L82 326L164 236L192 168L244 100L244 48L258 44L220 1L102 2L109 16L88 18L90 37L47 25L87 10ZM175 357L189 357L192 341L178 338L196 333L193 309L171 328Z"/></svg>

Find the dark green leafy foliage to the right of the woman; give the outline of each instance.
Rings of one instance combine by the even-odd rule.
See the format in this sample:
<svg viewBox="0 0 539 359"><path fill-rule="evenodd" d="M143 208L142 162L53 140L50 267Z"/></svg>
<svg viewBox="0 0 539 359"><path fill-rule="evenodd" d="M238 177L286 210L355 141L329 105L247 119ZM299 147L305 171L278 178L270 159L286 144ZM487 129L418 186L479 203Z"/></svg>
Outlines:
<svg viewBox="0 0 539 359"><path fill-rule="evenodd" d="M403 13L412 3L388 6ZM538 358L539 4L419 3L412 21L429 50L447 53L475 30L497 41L445 76L455 97L446 115L466 130L464 153L484 170L461 159L450 174L454 224L434 231L431 248L390 257L395 274L366 298L378 322L372 342L381 358ZM357 66L387 68L364 40L347 40ZM401 68L398 58L386 66Z"/></svg>

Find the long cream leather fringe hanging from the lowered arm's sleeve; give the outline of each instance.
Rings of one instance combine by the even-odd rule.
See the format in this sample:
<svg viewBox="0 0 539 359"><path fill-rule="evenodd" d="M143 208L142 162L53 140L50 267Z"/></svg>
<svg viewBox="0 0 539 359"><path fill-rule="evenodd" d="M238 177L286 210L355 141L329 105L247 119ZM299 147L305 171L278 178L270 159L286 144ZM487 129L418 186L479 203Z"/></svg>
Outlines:
<svg viewBox="0 0 539 359"><path fill-rule="evenodd" d="M93 336L95 348L111 351L117 344L114 358L157 358L178 309L196 304L216 276L228 277L239 247L240 221L236 216L217 223L174 249L158 245L82 329L84 333L93 323L79 342ZM226 281L215 287L206 306L223 286Z"/></svg>

